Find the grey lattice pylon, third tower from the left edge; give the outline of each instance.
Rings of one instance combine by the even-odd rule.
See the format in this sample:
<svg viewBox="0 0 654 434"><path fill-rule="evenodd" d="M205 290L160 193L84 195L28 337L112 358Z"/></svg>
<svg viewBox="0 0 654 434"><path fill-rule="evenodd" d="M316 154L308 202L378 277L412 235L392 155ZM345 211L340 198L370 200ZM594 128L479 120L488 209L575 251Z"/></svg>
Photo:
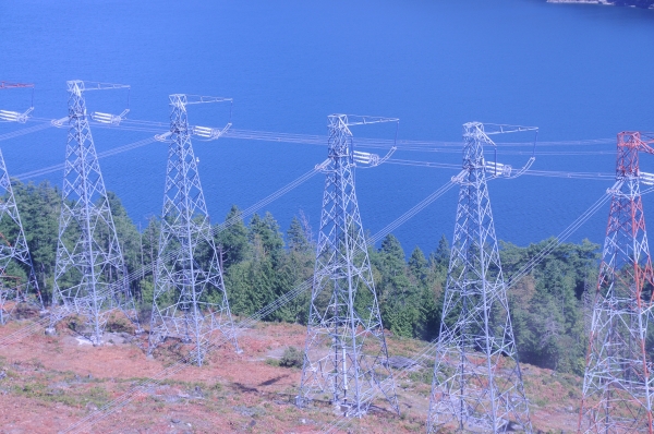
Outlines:
<svg viewBox="0 0 654 434"><path fill-rule="evenodd" d="M193 361L202 365L216 331L239 343L222 269L193 154L186 95L171 95L171 143L155 276L149 353L166 338L193 343ZM202 258L201 255L208 255Z"/></svg>

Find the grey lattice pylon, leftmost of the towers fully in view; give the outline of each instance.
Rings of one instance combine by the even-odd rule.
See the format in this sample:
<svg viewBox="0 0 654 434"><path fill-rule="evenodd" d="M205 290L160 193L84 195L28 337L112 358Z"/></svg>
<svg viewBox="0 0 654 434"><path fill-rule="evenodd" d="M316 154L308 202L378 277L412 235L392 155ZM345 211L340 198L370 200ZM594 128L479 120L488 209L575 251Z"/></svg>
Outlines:
<svg viewBox="0 0 654 434"><path fill-rule="evenodd" d="M88 84L87 84L88 85ZM98 84L94 89L118 88ZM94 345L102 343L109 316L122 311L140 330L128 273L116 233L105 181L86 113L82 81L68 82L69 133L65 150L59 242L48 333L62 317L77 314Z"/></svg>

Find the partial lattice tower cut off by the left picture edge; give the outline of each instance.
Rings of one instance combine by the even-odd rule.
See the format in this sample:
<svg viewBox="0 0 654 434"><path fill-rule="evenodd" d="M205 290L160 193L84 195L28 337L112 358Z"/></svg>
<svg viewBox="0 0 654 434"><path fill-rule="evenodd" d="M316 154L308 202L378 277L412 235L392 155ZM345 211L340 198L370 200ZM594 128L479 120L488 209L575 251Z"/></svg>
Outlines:
<svg viewBox="0 0 654 434"><path fill-rule="evenodd" d="M0 197L0 225L4 230L4 233L0 232L0 324L4 324L17 304L26 303L44 311L44 302L1 152ZM25 282L10 275L12 263L23 268L27 275Z"/></svg>

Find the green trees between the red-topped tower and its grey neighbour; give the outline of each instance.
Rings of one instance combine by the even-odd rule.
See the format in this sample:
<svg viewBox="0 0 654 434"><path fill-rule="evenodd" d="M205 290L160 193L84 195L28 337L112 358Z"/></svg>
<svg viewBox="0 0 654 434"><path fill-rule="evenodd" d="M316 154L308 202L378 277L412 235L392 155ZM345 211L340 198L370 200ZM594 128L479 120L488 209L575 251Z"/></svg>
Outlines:
<svg viewBox="0 0 654 434"><path fill-rule="evenodd" d="M550 241L526 248L504 243L505 275L518 272ZM597 249L588 240L564 243L509 289L520 360L559 372L583 373L588 330L582 298L596 278Z"/></svg>

